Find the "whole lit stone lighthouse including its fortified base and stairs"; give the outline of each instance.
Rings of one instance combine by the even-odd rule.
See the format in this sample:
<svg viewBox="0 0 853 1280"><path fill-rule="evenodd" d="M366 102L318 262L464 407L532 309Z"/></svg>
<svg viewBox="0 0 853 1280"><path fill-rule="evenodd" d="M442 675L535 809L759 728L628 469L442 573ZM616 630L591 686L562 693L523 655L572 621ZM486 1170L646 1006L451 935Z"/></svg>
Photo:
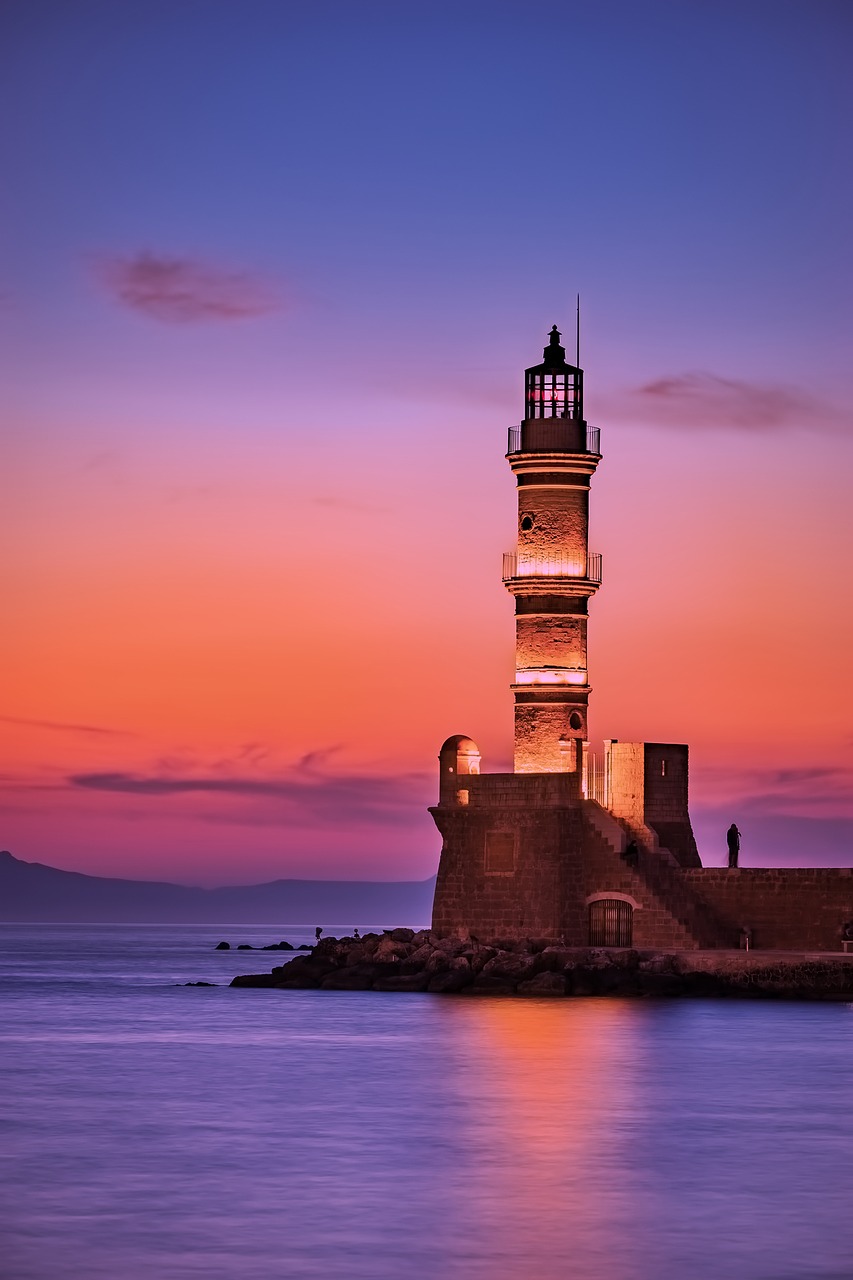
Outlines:
<svg viewBox="0 0 853 1280"><path fill-rule="evenodd" d="M589 486L601 447L584 417L580 361L566 360L556 325L525 370L523 412L506 451L519 507L516 545L503 554L515 599L512 772L484 769L466 733L444 741L429 810L442 836L433 929L570 946L721 945L734 927L712 920L681 879L701 868L686 746L607 739L596 785L584 778L587 621L601 586Z"/></svg>

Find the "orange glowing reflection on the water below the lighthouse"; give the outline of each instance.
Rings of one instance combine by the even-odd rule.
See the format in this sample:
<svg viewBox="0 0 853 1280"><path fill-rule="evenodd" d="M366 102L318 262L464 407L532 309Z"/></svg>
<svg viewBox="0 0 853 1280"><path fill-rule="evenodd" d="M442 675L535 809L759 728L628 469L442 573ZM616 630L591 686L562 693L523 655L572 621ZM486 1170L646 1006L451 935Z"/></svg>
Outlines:
<svg viewBox="0 0 853 1280"><path fill-rule="evenodd" d="M484 997L455 1001L450 1016L465 1024L467 1059L453 1073L479 1254L466 1274L631 1280L644 1235L631 1170L642 1010Z"/></svg>

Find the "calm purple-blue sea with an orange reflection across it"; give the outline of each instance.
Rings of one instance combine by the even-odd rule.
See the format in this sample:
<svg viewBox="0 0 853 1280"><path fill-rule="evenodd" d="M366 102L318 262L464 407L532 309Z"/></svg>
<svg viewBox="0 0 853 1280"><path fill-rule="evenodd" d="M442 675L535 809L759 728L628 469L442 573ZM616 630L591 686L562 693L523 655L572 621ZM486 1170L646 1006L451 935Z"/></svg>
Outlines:
<svg viewBox="0 0 853 1280"><path fill-rule="evenodd" d="M849 1280L853 1009L184 988L3 925L3 1280Z"/></svg>

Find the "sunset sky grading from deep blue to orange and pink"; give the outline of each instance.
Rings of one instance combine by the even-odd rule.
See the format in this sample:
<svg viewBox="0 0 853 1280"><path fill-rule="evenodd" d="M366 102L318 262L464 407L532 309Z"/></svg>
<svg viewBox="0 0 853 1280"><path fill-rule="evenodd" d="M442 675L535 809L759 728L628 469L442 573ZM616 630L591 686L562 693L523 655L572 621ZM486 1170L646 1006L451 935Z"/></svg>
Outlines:
<svg viewBox="0 0 853 1280"><path fill-rule="evenodd" d="M581 296L596 740L853 861L847 0L5 0L3 846L421 879ZM569 343L570 344L570 343Z"/></svg>

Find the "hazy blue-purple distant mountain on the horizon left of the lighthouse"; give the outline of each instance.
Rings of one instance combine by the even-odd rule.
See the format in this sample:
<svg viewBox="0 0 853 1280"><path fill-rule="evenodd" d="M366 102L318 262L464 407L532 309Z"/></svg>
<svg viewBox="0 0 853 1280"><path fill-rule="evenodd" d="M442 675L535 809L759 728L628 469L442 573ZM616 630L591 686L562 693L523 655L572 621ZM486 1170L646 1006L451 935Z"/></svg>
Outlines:
<svg viewBox="0 0 853 1280"><path fill-rule="evenodd" d="M0 920L68 924L429 924L428 881L270 881L190 888L81 876L0 852Z"/></svg>

